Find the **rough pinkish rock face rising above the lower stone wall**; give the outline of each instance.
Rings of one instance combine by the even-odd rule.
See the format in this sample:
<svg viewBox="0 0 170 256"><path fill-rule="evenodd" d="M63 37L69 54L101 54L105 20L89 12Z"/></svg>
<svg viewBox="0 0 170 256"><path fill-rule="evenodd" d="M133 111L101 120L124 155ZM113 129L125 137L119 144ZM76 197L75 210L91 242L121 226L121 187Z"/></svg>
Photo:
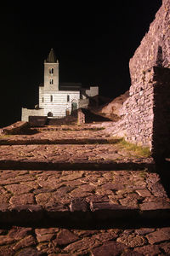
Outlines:
<svg viewBox="0 0 170 256"><path fill-rule="evenodd" d="M170 1L163 0L139 48L129 62L131 83L138 84L154 66L170 67Z"/></svg>

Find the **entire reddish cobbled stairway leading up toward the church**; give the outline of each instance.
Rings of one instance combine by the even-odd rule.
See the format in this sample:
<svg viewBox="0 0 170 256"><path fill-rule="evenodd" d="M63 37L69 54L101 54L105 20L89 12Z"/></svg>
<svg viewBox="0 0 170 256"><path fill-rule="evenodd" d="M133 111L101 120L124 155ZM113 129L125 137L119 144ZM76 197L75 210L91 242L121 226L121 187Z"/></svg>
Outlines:
<svg viewBox="0 0 170 256"><path fill-rule="evenodd" d="M101 143L111 139L103 131L89 130L89 125L81 129L55 127L1 138L9 143L0 146L3 166L9 160L18 166L60 162L68 170L0 170L0 255L170 255L170 201L153 169L69 166L112 161L140 166L151 159L136 158L116 143ZM62 144L44 144L43 138ZM64 144L75 138L85 143ZM87 143L90 138L99 143Z"/></svg>

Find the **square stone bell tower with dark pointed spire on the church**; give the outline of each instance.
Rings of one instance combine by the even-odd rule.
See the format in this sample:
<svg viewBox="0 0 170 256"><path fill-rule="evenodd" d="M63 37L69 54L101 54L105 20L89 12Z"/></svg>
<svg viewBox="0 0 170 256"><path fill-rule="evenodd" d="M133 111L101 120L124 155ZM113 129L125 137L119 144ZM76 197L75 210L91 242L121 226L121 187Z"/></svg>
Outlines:
<svg viewBox="0 0 170 256"><path fill-rule="evenodd" d="M44 90L59 90L59 61L56 59L53 48L47 60L44 61Z"/></svg>

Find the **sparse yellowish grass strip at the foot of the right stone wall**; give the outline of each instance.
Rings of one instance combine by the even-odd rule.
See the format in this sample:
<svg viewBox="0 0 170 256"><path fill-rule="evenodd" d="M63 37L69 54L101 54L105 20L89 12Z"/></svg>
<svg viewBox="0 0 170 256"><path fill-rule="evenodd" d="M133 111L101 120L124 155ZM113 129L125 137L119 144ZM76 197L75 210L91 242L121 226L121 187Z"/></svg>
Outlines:
<svg viewBox="0 0 170 256"><path fill-rule="evenodd" d="M149 147L141 147L133 143L127 143L124 138L118 140L117 145L139 157L150 157L151 155Z"/></svg>

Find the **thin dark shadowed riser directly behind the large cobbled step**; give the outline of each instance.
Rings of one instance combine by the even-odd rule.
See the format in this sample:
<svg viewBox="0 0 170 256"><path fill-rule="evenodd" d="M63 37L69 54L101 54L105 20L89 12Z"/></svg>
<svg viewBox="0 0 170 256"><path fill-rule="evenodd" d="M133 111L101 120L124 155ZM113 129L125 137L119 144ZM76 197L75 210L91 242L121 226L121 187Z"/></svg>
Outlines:
<svg viewBox="0 0 170 256"><path fill-rule="evenodd" d="M145 168L150 171L155 169L154 162L135 162L135 161L88 161L77 160L71 161L36 161L36 160L0 160L0 170L45 170L45 171L112 171L112 170L143 170Z"/></svg>

